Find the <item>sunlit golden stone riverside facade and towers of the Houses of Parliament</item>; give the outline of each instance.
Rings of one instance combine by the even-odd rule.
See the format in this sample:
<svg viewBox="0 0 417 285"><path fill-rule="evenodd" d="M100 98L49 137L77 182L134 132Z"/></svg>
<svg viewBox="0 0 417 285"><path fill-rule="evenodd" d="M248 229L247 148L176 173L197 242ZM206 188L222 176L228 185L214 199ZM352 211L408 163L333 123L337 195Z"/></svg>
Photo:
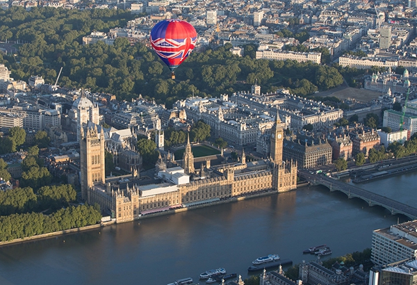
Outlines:
<svg viewBox="0 0 417 285"><path fill-rule="evenodd" d="M104 181L94 184L95 175L88 173L88 165L93 166L89 150L101 153L99 149L103 149L104 142L101 142L99 133L92 129L81 143L81 168L83 179L88 179L83 189L88 191L88 202L93 204L97 202L102 211L111 211L117 222L125 222L139 218L140 215L150 213L152 211L165 211L167 209L177 208L183 204L202 202L213 198L228 198L241 195L250 195L262 190L276 190L277 192L285 192L297 188L297 165L295 163L282 162L282 129L275 127L273 138L271 140L273 161L264 161L263 165L250 167L246 165L228 165L223 172L217 171L215 177L197 179L186 184L158 184L158 189L152 194L147 195L149 186L133 186L124 190L119 188L111 189L109 184L104 185ZM281 135L281 136L279 136ZM88 142L95 142L95 149L88 148ZM188 152L191 151L187 147ZM98 160L97 160L98 161ZM104 165L104 159L99 160ZM193 158L190 155L190 163L185 165L185 173L193 174ZM101 168L100 168L101 169ZM101 172L100 172L101 173ZM100 174L101 175L101 174ZM104 166L103 166L104 175ZM93 178L95 177L95 178ZM103 176L104 177L104 176Z"/></svg>

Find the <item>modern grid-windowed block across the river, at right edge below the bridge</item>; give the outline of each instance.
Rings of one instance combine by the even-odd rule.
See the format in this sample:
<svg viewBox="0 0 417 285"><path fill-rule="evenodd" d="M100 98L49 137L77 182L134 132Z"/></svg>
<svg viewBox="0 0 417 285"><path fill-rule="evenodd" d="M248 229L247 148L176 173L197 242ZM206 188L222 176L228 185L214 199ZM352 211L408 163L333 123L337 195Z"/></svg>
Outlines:
<svg viewBox="0 0 417 285"><path fill-rule="evenodd" d="M370 260L377 266L416 259L417 220L373 231Z"/></svg>

